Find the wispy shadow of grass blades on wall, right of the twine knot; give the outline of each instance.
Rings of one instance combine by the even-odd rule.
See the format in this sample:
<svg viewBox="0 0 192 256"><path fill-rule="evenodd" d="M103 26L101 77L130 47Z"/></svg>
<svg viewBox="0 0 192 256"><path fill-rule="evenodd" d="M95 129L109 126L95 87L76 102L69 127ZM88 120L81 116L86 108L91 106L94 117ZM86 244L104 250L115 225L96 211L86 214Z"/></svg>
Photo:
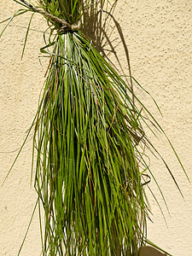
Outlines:
<svg viewBox="0 0 192 256"><path fill-rule="evenodd" d="M121 26L113 16L118 1L113 0L113 4L108 3L108 1L106 2L107 4L105 4L105 1L101 0L96 7L90 5L90 9L86 10L87 12L84 13L83 31L87 37L93 40L96 49L109 62L114 70L124 76L126 84L130 85L131 91L133 92L129 51ZM115 33L118 34L117 37L113 36ZM124 49L127 64L126 68L123 67L125 62L122 66L122 61L116 51L119 45ZM116 59L118 65L114 65L110 60L110 54ZM134 96L132 98L134 102Z"/></svg>

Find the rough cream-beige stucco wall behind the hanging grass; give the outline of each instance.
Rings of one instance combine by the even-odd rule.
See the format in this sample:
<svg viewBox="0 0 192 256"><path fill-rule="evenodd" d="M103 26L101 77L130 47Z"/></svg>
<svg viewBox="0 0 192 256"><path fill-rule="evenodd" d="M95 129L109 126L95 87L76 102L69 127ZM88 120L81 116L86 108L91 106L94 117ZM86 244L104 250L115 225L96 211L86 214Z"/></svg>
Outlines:
<svg viewBox="0 0 192 256"><path fill-rule="evenodd" d="M19 9L12 0L0 0L0 21ZM131 58L133 76L158 102L163 118L153 101L134 90L151 109L171 139L183 166L192 180L192 10L184 0L119 0L114 18L119 22ZM38 106L38 95L44 83L47 61L39 61L39 48L44 46L42 32L30 32L26 54L20 55L25 40L29 15L16 18L0 39L0 182L9 171L23 142L26 131ZM109 27L114 27L111 21ZM44 31L46 24L39 15L32 20L32 28ZM109 29L108 28L108 29ZM0 24L0 31L3 24ZM117 30L111 35L121 65L127 73L127 62ZM110 58L117 63L113 54ZM184 200L178 193L166 167L151 157L151 169L160 183L171 216L156 188L150 183L165 214L166 223L157 203L149 195L154 224L148 222L148 239L174 256L190 256L192 244L192 188L184 177L172 148L165 137L160 140L149 134L177 178ZM30 186L32 137L27 141L8 179L0 187L0 255L18 253L27 224L36 202ZM166 226L167 224L167 226ZM40 255L38 212L32 221L20 255ZM153 256L153 255L152 255Z"/></svg>

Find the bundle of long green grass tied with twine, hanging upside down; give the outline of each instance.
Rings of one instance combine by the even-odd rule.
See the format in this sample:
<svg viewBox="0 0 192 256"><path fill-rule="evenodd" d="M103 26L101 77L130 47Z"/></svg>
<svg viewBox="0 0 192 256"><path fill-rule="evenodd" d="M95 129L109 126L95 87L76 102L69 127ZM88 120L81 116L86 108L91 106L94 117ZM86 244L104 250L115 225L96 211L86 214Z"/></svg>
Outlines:
<svg viewBox="0 0 192 256"><path fill-rule="evenodd" d="M147 119L130 87L80 30L84 13L99 3L17 3L26 7L17 15L40 13L56 32L41 49L50 61L33 122L35 189L39 210L44 208L42 253L139 255L146 241L143 172L148 166L138 144L150 145L141 124Z"/></svg>

